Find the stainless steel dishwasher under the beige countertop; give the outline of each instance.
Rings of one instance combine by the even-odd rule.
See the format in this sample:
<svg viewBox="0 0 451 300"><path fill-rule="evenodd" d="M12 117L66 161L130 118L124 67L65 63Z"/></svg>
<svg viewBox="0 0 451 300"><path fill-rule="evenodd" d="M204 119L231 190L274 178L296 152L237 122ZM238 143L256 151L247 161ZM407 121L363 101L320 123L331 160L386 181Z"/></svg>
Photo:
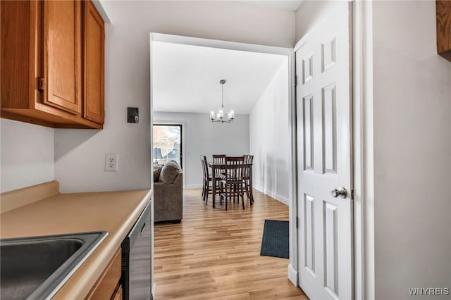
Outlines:
<svg viewBox="0 0 451 300"><path fill-rule="evenodd" d="M124 300L151 299L151 201L121 244Z"/></svg>

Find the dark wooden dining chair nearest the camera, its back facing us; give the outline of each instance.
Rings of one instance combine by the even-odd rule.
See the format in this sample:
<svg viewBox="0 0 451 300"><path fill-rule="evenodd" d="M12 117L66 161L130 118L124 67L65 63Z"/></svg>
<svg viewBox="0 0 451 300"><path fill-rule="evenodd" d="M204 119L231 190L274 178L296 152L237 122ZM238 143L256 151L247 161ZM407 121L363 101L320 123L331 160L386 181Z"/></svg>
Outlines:
<svg viewBox="0 0 451 300"><path fill-rule="evenodd" d="M242 208L245 209L244 189L243 189L243 175L244 175L244 156L226 156L225 172L223 173L223 179L221 180L221 204L222 201L226 201L226 211L228 199L235 198L237 203L240 204L240 196L242 199Z"/></svg>

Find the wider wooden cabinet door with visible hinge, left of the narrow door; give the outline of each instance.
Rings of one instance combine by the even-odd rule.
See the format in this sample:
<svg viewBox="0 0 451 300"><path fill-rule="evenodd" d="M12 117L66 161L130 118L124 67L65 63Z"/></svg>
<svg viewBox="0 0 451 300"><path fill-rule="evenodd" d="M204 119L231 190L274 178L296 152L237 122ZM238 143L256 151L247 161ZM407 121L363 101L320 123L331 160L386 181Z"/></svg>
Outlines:
<svg viewBox="0 0 451 300"><path fill-rule="evenodd" d="M43 1L44 103L81 113L81 1Z"/></svg>

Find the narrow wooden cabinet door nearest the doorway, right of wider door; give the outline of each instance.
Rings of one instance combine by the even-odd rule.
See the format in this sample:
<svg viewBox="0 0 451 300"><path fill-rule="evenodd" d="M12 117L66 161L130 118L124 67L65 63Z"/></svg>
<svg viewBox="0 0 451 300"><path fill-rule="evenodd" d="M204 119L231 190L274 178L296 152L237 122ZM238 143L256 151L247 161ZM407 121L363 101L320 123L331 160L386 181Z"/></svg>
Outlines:
<svg viewBox="0 0 451 300"><path fill-rule="evenodd" d="M91 1L84 18L85 106L83 118L104 123L104 21Z"/></svg>

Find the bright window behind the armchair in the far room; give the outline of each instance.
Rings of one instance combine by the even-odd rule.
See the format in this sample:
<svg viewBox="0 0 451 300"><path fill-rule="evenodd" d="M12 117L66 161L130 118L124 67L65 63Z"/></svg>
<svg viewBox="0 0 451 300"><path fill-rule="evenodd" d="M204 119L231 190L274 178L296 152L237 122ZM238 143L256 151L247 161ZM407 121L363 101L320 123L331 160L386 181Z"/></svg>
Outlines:
<svg viewBox="0 0 451 300"><path fill-rule="evenodd" d="M182 168L182 125L154 124L154 165L177 161Z"/></svg>

